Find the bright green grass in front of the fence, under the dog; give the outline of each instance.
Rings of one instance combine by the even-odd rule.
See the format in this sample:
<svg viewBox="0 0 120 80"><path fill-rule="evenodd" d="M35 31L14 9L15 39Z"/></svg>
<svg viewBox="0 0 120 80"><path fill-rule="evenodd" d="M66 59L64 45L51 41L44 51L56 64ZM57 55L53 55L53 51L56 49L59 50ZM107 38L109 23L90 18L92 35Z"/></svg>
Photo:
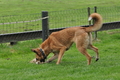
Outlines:
<svg viewBox="0 0 120 80"><path fill-rule="evenodd" d="M56 60L49 64L29 63L35 57L30 51L42 42L40 39L18 42L17 45L1 44L1 80L119 80L120 79L120 30L98 32L98 40L93 44L99 48L100 60L92 60L87 65L84 55L72 45L66 51L62 62ZM95 53L88 50L91 56ZM52 54L50 55L52 56ZM48 56L48 57L50 57Z"/></svg>

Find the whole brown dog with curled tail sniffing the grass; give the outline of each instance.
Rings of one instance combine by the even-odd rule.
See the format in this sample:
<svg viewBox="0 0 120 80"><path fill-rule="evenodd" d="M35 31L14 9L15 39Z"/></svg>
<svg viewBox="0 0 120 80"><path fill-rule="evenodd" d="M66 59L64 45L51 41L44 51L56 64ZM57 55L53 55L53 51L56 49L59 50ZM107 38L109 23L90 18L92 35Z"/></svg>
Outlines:
<svg viewBox="0 0 120 80"><path fill-rule="evenodd" d="M95 24L90 27L71 27L58 32L53 32L39 48L32 49L36 53L36 64L51 62L58 58L59 64L61 58L66 50L70 48L72 43L76 43L77 49L86 56L88 65L91 63L91 56L88 54L87 49L92 49L96 52L96 61L99 59L98 49L92 45L92 31L99 30L102 27L102 17L93 13L89 17L89 21L94 19ZM54 56L45 62L46 57L51 53Z"/></svg>

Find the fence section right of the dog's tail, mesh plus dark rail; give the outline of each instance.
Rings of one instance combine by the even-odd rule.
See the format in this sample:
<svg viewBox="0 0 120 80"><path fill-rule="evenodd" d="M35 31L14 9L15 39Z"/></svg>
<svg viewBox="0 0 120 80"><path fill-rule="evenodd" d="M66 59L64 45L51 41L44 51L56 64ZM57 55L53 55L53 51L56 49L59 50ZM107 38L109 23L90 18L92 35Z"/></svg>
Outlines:
<svg viewBox="0 0 120 80"><path fill-rule="evenodd" d="M103 17L104 24L101 30L120 28L120 6L98 7L97 12Z"/></svg>

